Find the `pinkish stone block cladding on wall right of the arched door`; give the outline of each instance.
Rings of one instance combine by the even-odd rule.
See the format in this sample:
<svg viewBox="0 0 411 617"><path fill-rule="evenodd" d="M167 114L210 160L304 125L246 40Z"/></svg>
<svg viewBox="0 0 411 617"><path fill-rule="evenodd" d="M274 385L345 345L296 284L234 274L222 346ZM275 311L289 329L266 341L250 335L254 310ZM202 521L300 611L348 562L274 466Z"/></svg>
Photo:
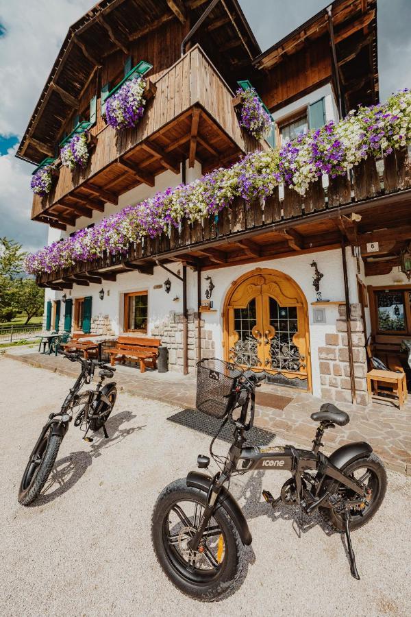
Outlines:
<svg viewBox="0 0 411 617"><path fill-rule="evenodd" d="M319 348L321 397L338 402L351 402L351 378L348 356L345 304L338 306L336 332L325 335L325 347ZM366 351L361 305L351 304L351 338L353 343L356 403L368 404L366 394Z"/></svg>

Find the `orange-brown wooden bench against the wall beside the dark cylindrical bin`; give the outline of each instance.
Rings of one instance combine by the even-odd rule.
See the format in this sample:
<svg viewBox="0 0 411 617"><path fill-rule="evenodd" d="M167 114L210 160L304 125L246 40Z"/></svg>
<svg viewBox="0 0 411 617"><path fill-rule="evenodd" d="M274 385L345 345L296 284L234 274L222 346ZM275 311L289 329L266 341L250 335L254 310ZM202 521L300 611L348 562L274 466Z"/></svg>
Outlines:
<svg viewBox="0 0 411 617"><path fill-rule="evenodd" d="M108 349L110 363L114 366L116 361L140 362L140 372L145 373L147 365L155 368L158 358L160 339L153 337L119 337L116 347Z"/></svg>

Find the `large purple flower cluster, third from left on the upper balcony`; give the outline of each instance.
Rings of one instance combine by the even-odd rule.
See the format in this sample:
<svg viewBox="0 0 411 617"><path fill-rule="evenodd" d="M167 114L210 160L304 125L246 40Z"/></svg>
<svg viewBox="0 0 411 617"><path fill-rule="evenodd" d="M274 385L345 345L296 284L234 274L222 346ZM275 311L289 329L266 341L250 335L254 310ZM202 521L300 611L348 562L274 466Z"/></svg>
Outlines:
<svg viewBox="0 0 411 617"><path fill-rule="evenodd" d="M144 114L146 82L140 75L121 86L105 101L105 120L116 129L133 128Z"/></svg>

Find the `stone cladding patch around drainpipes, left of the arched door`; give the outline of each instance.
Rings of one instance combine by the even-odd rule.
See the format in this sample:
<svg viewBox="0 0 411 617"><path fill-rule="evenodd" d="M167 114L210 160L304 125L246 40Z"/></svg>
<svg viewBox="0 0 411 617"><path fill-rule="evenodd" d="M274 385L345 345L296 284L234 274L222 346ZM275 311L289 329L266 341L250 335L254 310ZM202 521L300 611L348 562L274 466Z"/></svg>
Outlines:
<svg viewBox="0 0 411 617"><path fill-rule="evenodd" d="M188 372L195 372L198 361L197 328L199 314L188 310ZM201 358L212 358L215 354L215 343L212 331L206 330L204 320L200 319L201 327ZM151 336L159 337L162 345L169 350L169 370L183 370L183 315L170 311L166 319L151 328Z"/></svg>

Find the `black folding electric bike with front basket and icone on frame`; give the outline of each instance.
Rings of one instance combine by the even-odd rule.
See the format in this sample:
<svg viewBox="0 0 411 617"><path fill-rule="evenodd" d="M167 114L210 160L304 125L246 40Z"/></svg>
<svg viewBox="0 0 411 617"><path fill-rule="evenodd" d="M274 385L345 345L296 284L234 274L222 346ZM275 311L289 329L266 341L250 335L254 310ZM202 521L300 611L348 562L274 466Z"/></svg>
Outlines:
<svg viewBox="0 0 411 617"><path fill-rule="evenodd" d="M345 532L351 574L359 579L350 532L369 522L382 504L386 472L382 461L364 441L347 444L329 457L320 452L327 428L344 426L349 415L334 404L323 404L311 418L319 422L312 450L293 446L247 447L245 432L253 426L255 388L264 374L242 372L221 360L197 364L199 411L234 425L227 457L210 455L220 472L213 477L193 471L164 488L151 518L155 555L165 574L185 594L203 601L225 596L241 571L242 547L251 544L245 516L225 486L234 474L254 470L288 470L291 477L274 499L266 502L299 507L301 518L319 511L337 531ZM251 403L251 404L250 404ZM233 412L239 413L234 418ZM247 422L247 418L249 421ZM207 469L210 458L199 455L197 465Z"/></svg>

